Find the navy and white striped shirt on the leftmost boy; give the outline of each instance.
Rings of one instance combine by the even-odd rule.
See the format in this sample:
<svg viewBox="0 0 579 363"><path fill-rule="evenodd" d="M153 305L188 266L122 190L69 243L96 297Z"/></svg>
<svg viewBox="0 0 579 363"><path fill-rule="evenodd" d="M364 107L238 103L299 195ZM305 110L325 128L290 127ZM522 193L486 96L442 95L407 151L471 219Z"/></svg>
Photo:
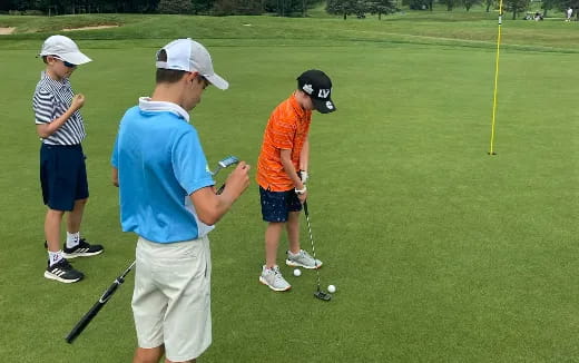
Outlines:
<svg viewBox="0 0 579 363"><path fill-rule="evenodd" d="M70 107L73 96L75 92L67 78L61 81L55 80L43 71L32 98L36 124L50 124L62 116ZM43 138L42 143L49 145L79 145L86 136L82 116L77 110L55 134Z"/></svg>

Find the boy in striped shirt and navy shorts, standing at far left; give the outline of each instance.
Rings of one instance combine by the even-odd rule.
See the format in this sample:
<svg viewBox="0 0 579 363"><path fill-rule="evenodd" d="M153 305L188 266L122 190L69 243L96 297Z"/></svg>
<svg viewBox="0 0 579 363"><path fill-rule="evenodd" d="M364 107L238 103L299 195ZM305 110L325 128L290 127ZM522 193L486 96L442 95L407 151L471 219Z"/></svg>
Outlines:
<svg viewBox="0 0 579 363"><path fill-rule="evenodd" d="M77 45L67 37L52 36L42 45L39 57L46 63L35 96L32 108L40 147L40 183L42 198L48 207L45 219L45 246L48 267L45 277L62 283L76 283L84 274L66 258L92 256L104 249L80 238L80 222L88 199L87 169L81 141L85 125L79 109L85 97L75 95L69 77L77 66L90 61ZM67 242L60 249L60 224L67 218Z"/></svg>

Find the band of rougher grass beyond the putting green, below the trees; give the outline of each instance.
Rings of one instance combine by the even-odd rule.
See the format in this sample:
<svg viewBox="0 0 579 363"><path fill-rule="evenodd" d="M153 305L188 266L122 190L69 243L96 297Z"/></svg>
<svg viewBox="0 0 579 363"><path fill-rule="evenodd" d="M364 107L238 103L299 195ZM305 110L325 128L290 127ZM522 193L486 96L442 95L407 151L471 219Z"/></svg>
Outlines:
<svg viewBox="0 0 579 363"><path fill-rule="evenodd" d="M170 19L170 20L168 20ZM192 20L195 19L195 20ZM119 29L78 30L76 39L126 40L170 39L196 35L197 39L235 43L304 43L332 47L341 42L423 43L493 48L497 42L497 13L484 11L409 11L377 18L276 18L276 17L186 17L90 14L63 17L0 17L0 27L16 27L10 38L0 37L0 49L14 40L41 39L62 29L118 26ZM504 20L502 46L534 51L576 52L577 23L563 21ZM71 33L72 35L72 33Z"/></svg>

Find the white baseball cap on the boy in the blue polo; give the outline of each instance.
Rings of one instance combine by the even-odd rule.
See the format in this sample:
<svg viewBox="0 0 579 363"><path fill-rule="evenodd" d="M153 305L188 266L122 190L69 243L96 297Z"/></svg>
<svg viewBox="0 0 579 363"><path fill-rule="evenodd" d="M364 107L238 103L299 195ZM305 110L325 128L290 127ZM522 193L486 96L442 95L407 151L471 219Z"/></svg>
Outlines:
<svg viewBox="0 0 579 363"><path fill-rule="evenodd" d="M229 84L213 70L212 56L209 56L207 49L195 40L190 38L177 39L163 49L167 53L167 61L157 60L157 68L196 71L215 87L219 89L229 88Z"/></svg>

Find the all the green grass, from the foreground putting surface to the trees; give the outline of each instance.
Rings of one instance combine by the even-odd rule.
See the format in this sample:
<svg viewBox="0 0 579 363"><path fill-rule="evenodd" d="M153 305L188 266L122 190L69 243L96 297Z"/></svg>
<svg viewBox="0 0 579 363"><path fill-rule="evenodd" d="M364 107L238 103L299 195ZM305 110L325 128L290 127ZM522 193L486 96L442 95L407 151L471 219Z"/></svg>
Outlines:
<svg viewBox="0 0 579 363"><path fill-rule="evenodd" d="M271 110L304 69L332 76L338 108L314 116L308 186L334 300L314 300L312 272L283 267L293 284L284 294L257 283L265 226L254 183L210 235L214 343L203 362L578 361L576 24L506 21L498 155L488 156L495 19L433 17L0 17L0 27L43 29L0 37L0 360L130 361L133 278L75 345L63 336L134 258L109 182L111 145L125 109L153 88L155 49L190 36L232 84L193 112L213 163L233 154L255 164ZM107 251L75 261L87 278L66 286L42 277L35 55L59 27L96 19L124 24L69 33L95 59L72 85L87 97L82 230Z"/></svg>

